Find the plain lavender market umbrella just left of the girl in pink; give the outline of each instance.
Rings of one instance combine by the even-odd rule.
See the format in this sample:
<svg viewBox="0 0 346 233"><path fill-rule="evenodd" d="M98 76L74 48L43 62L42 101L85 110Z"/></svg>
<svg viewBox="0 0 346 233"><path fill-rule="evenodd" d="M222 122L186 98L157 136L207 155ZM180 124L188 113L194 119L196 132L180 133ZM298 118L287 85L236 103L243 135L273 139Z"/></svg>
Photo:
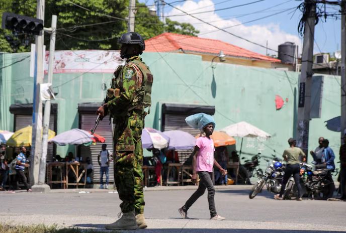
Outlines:
<svg viewBox="0 0 346 233"><path fill-rule="evenodd" d="M169 138L168 149L170 150L192 150L196 145L196 139L191 134L180 131L171 130L163 132Z"/></svg>

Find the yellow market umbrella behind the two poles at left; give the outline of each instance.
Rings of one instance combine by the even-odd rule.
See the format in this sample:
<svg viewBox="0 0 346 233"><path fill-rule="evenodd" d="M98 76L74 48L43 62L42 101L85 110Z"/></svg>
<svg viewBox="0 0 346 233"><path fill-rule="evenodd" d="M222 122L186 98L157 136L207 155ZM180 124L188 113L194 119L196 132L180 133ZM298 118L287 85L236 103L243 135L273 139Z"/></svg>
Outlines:
<svg viewBox="0 0 346 233"><path fill-rule="evenodd" d="M48 130L48 139L55 136L55 132ZM10 147L30 147L32 143L32 127L27 126L16 131L9 140L7 140L6 145Z"/></svg>

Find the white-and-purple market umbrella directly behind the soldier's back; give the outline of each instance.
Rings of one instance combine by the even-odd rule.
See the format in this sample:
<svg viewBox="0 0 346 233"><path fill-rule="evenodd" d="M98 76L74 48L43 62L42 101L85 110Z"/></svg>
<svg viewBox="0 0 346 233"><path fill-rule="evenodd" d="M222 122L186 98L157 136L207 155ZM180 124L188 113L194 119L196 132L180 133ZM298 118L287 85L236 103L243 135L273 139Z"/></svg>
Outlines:
<svg viewBox="0 0 346 233"><path fill-rule="evenodd" d="M169 138L166 135L152 128L144 128L141 139L144 149L156 148L160 150L166 148L169 143Z"/></svg>

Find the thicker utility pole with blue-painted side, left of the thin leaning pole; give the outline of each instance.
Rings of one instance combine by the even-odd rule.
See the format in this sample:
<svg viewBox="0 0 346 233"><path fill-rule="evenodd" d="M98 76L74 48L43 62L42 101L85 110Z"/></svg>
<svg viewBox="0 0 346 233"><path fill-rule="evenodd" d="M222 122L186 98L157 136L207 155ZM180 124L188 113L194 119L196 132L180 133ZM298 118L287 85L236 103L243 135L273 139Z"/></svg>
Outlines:
<svg viewBox="0 0 346 233"><path fill-rule="evenodd" d="M36 18L44 22L44 0L37 0ZM37 184L39 176L39 164L41 158L41 134L42 134L42 100L40 96L40 84L43 82L43 36L36 36L36 69L34 77L33 120L32 120L32 145L30 156L30 184Z"/></svg>

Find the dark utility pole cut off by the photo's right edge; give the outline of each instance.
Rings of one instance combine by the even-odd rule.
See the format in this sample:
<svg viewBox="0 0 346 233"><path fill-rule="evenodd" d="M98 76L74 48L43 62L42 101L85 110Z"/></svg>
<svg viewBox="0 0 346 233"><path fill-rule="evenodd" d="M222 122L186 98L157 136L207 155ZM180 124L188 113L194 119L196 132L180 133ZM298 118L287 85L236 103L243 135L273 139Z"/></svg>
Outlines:
<svg viewBox="0 0 346 233"><path fill-rule="evenodd" d="M346 130L346 0L341 2L341 138ZM336 67L337 68L337 67ZM341 139L342 141L342 139Z"/></svg>

